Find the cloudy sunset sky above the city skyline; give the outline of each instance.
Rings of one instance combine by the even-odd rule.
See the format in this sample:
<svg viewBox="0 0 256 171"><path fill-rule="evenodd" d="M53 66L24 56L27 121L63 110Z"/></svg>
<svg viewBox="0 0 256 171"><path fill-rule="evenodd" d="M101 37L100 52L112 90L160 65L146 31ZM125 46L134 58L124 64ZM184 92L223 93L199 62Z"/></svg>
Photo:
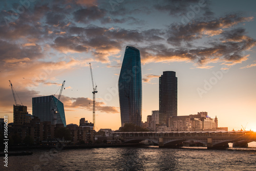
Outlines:
<svg viewBox="0 0 256 171"><path fill-rule="evenodd" d="M0 2L0 117L13 121L9 81L32 97L56 94L66 121L121 125L117 82L126 46L140 50L142 120L158 110L158 77L175 71L178 115L208 112L219 126L256 131L255 1L56 0ZM21 102L17 98L19 104Z"/></svg>

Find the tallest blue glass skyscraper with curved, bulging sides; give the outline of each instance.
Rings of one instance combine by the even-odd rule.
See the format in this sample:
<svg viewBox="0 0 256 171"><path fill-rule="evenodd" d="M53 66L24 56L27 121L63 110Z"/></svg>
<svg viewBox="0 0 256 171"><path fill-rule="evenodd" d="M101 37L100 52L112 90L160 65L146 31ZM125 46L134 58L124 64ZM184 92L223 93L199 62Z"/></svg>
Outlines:
<svg viewBox="0 0 256 171"><path fill-rule="evenodd" d="M134 47L125 48L122 68L118 80L121 123L141 126L142 79L140 51Z"/></svg>

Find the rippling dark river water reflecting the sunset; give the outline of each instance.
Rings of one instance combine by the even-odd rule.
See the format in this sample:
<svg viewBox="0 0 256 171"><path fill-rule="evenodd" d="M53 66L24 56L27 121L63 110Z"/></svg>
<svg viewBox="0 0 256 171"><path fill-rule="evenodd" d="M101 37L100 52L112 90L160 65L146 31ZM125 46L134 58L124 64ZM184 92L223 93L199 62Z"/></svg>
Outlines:
<svg viewBox="0 0 256 171"><path fill-rule="evenodd" d="M248 148L111 147L33 150L9 156L4 170L256 170L256 143ZM3 159L2 159L3 160Z"/></svg>

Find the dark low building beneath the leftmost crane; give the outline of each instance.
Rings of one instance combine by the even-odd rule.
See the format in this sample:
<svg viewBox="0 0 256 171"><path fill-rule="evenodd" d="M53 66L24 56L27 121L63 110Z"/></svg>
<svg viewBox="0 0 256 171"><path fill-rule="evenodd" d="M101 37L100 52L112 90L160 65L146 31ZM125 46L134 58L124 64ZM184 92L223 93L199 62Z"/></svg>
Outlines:
<svg viewBox="0 0 256 171"><path fill-rule="evenodd" d="M29 123L32 115L27 112L25 105L13 105L13 125L23 125Z"/></svg>

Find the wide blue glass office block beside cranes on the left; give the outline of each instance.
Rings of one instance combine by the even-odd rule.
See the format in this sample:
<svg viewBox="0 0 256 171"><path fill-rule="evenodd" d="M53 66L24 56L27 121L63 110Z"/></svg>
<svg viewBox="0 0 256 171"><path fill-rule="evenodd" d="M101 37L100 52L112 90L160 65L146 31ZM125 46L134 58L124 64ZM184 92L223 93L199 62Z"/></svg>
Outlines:
<svg viewBox="0 0 256 171"><path fill-rule="evenodd" d="M51 121L54 124L53 116L51 114L51 99L53 98L54 104L57 103L57 98L52 96L42 96L32 98L32 114L37 116L40 121ZM64 105L61 101L57 104L57 124L63 124L66 126L66 118Z"/></svg>

